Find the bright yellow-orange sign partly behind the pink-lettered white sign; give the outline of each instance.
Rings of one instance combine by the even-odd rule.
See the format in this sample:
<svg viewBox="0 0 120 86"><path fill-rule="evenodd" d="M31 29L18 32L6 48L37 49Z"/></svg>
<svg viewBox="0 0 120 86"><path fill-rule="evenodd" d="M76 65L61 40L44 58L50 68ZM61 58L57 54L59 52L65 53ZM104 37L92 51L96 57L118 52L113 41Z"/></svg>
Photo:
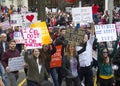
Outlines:
<svg viewBox="0 0 120 86"><path fill-rule="evenodd" d="M41 36L42 36L42 44L50 44L52 43L52 39L50 37L47 25L45 22L36 22L34 24L31 24L32 28L40 28Z"/></svg>

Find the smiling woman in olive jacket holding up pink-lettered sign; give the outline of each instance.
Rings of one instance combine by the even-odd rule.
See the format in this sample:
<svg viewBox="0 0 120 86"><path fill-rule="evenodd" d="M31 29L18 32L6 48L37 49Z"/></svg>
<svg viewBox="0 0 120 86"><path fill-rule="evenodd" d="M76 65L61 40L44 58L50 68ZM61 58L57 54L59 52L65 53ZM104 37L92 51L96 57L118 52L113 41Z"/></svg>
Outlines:
<svg viewBox="0 0 120 86"><path fill-rule="evenodd" d="M33 49L32 55L25 50L24 59L28 64L27 86L41 86L44 81L50 80L45 68L45 55L42 50Z"/></svg>

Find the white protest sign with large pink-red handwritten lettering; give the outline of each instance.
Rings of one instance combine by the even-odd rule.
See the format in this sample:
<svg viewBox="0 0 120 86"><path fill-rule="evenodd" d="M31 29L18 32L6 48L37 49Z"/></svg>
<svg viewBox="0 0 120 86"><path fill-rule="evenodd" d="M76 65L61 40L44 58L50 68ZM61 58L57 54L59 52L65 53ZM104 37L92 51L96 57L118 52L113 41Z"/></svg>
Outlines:
<svg viewBox="0 0 120 86"><path fill-rule="evenodd" d="M42 48L42 36L40 28L24 28L23 36L27 49Z"/></svg>

